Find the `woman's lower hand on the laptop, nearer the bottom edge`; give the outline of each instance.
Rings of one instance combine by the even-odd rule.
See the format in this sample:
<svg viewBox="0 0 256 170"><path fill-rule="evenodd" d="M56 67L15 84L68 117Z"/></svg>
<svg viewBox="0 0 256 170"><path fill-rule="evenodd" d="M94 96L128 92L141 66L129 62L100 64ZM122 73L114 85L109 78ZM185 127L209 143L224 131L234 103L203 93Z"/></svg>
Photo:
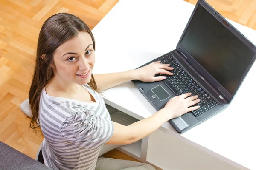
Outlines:
<svg viewBox="0 0 256 170"><path fill-rule="evenodd" d="M190 111L198 109L199 106L190 107L198 102L200 102L198 96L191 96L191 93L185 93L169 99L165 107L161 110L164 110L164 113L166 114L166 119L170 120Z"/></svg>

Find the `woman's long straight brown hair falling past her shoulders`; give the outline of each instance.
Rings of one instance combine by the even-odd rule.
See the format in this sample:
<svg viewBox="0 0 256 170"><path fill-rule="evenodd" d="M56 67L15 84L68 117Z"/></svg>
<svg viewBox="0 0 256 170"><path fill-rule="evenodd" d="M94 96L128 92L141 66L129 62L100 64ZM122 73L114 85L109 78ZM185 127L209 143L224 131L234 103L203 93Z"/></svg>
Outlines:
<svg viewBox="0 0 256 170"><path fill-rule="evenodd" d="M35 71L29 89L29 104L33 115L30 127L35 129L36 132L36 128L40 127L37 120L41 92L54 77L53 68L50 67L51 63L54 64L53 54L61 44L76 37L79 31L87 31L90 34L93 40L93 49L95 50L95 40L90 28L79 17L72 14L59 13L52 15L44 22L40 30L36 51ZM44 55L44 59L42 59L42 55ZM99 92L93 74L88 85L90 85L93 90Z"/></svg>

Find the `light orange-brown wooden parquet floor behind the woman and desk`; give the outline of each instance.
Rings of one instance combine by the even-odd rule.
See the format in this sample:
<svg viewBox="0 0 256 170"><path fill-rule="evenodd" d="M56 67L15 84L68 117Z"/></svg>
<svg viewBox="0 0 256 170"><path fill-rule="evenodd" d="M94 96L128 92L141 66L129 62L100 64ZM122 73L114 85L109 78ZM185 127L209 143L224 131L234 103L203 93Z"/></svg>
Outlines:
<svg viewBox="0 0 256 170"><path fill-rule="evenodd" d="M75 14L93 29L119 0L0 0L0 141L35 158L43 136L20 110L28 98L38 34L53 14ZM186 0L195 4L197 0ZM224 17L256 30L256 0L207 0ZM134 160L117 150L106 157Z"/></svg>

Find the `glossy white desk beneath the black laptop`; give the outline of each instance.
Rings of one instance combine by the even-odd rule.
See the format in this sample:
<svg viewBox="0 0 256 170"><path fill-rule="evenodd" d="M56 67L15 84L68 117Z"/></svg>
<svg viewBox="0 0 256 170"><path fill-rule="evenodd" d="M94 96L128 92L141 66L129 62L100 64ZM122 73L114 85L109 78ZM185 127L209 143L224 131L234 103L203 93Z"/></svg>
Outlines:
<svg viewBox="0 0 256 170"><path fill-rule="evenodd" d="M172 51L194 7L183 0L120 0L93 29L96 40L96 63L93 74L137 68ZM256 44L256 31L233 21L230 23ZM203 124L182 135L168 122L159 130L237 169L256 169L256 90L253 86L256 84L255 75L256 64L251 68L231 105ZM147 118L156 112L132 82L125 82L102 94L106 96L107 104L137 119ZM168 169L166 165L161 165L163 162L157 160L164 159L166 153L163 153L163 157L151 156L149 160L148 152L152 151L149 151L148 139L150 137L143 140L142 146L140 141L131 146L124 146L120 150L141 161ZM189 162L189 158L184 158L182 162ZM198 165L198 169L201 169L200 166ZM180 169L186 168L180 166ZM194 167L191 165L188 169Z"/></svg>

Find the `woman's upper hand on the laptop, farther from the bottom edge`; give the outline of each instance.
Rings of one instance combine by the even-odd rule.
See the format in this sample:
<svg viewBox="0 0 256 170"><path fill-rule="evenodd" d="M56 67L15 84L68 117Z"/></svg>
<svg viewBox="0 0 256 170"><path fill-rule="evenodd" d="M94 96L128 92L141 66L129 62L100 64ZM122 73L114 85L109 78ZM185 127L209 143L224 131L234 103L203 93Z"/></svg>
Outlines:
<svg viewBox="0 0 256 170"><path fill-rule="evenodd" d="M144 67L138 68L135 71L136 79L143 82L155 82L166 79L165 76L154 76L155 74L168 74L173 75L171 70L174 68L170 67L169 64L162 64L161 61L152 62Z"/></svg>

